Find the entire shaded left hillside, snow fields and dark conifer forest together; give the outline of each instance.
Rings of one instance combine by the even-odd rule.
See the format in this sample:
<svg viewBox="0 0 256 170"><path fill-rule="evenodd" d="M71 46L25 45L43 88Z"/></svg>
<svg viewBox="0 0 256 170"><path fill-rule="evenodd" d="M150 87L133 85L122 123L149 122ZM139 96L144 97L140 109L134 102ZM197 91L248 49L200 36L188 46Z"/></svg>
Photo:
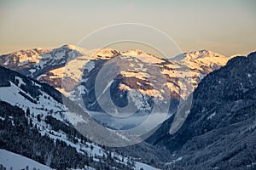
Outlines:
<svg viewBox="0 0 256 170"><path fill-rule="evenodd" d="M73 125L84 123L87 126L85 127L92 131L91 126L96 127L95 122L84 114L82 119L79 115L80 110L75 105L72 105L73 109L69 109L69 105L65 108L61 94L54 88L1 66L0 75L0 133L3 134L0 137L0 143L2 149L28 156L56 169L73 167L76 163L77 166L90 165L96 169L101 166L104 168L112 166L110 169L147 167L141 161L134 161L127 155L122 156L119 152L111 148L106 149L82 136ZM65 97L63 99L71 102ZM23 130L20 131L20 129ZM107 134L119 142L123 141L120 134ZM61 148L58 149L58 147ZM146 146L143 148L148 150ZM55 155L55 150L60 150L61 156L64 157ZM83 161L70 160L65 157L67 154L73 154L73 159ZM106 160L109 154L114 157L112 161ZM131 162L134 164L131 165Z"/></svg>

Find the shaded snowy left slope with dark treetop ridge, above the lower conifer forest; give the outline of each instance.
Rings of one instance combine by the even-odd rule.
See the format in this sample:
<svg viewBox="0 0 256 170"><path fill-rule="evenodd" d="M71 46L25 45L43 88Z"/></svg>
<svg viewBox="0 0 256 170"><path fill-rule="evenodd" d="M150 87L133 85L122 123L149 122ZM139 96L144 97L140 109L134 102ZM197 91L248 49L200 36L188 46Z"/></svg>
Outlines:
<svg viewBox="0 0 256 170"><path fill-rule="evenodd" d="M90 116L80 110L79 106L73 105L72 101L62 96L54 88L49 87L49 85L24 77L1 66L0 72L3 75L0 83L0 99L10 105L22 108L23 111L29 110L33 116L32 121L39 127L45 128L45 124L44 122L38 122L38 116L42 120L51 116L56 120L65 122L67 125L71 122L73 122L73 125L84 123L84 126L89 127L89 130L91 130L90 127L96 127L108 131L90 119ZM63 101L66 105L63 104ZM69 107L72 107L72 109ZM108 133L108 135L110 134L115 135L114 133ZM121 139L118 136L115 136L115 138L117 141Z"/></svg>

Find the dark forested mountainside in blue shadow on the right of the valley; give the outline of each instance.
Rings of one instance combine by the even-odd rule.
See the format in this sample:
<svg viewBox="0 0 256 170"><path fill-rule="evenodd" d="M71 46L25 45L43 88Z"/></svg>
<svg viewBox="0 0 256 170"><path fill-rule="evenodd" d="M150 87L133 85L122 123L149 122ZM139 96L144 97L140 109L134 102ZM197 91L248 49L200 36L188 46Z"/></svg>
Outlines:
<svg viewBox="0 0 256 170"><path fill-rule="evenodd" d="M148 139L177 154L189 169L245 169L255 157L256 53L230 59L195 89L183 126L170 134L174 116Z"/></svg>

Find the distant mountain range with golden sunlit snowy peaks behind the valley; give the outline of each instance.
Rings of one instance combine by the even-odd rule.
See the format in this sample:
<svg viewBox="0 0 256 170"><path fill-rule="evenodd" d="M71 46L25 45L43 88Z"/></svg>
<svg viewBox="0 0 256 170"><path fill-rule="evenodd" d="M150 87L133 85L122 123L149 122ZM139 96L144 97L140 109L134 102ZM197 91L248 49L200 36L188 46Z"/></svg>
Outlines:
<svg viewBox="0 0 256 170"><path fill-rule="evenodd" d="M86 111L124 112L120 107L132 101L133 110L140 114L152 112L154 103L161 103L161 110L172 114L203 77L229 59L208 50L160 58L139 49L125 52L111 48L88 50L69 44L61 48L34 48L5 54L0 56L0 65L48 83L83 105ZM105 75L105 72L113 73ZM113 105L104 99L108 91L114 96ZM141 123L119 126L123 122L113 117L99 119L115 128ZM109 123L108 119L114 119L115 123Z"/></svg>

